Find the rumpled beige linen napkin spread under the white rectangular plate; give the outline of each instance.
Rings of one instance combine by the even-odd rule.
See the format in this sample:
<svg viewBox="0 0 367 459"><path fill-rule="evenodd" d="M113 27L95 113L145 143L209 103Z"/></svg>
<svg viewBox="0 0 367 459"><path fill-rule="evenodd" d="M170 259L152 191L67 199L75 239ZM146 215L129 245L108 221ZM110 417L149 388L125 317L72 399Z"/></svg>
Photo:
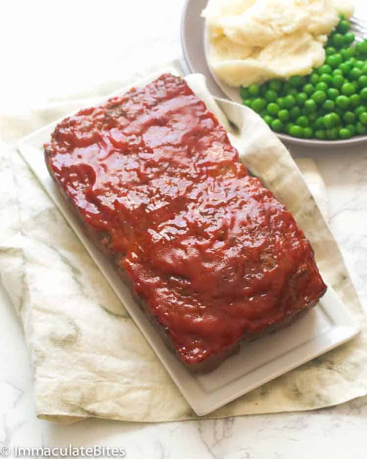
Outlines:
<svg viewBox="0 0 367 459"><path fill-rule="evenodd" d="M181 71L177 63L162 71ZM149 72L150 73L150 72ZM119 82L132 84L137 77ZM200 86L200 85L199 85ZM105 95L118 89L106 85ZM220 114L205 88L196 91ZM91 92L95 96L95 92ZM53 104L3 117L0 148L0 273L24 327L37 415L69 423L88 417L130 421L192 419L192 412L124 306L58 209L17 153L12 141L95 99ZM326 215L320 175L311 160L298 162L250 110L241 157L294 212L311 239L325 280L362 324L362 333L207 417L321 408L367 393L366 321L341 253L311 193ZM229 114L230 115L230 114Z"/></svg>

